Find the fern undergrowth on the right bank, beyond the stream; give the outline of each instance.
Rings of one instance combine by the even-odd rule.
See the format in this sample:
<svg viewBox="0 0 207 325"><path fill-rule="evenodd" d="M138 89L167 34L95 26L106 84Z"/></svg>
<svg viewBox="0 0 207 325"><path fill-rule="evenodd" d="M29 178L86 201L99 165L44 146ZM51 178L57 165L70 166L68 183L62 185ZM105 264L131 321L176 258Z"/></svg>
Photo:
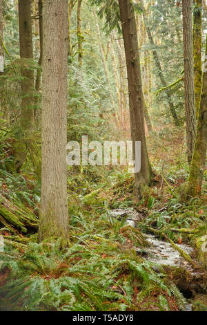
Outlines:
<svg viewBox="0 0 207 325"><path fill-rule="evenodd" d="M164 207L166 209L161 212L149 211L139 228L145 232L154 228L160 236L166 234L175 243L194 243L197 237L206 235L207 205L204 200L194 198L181 202L171 198Z"/></svg>

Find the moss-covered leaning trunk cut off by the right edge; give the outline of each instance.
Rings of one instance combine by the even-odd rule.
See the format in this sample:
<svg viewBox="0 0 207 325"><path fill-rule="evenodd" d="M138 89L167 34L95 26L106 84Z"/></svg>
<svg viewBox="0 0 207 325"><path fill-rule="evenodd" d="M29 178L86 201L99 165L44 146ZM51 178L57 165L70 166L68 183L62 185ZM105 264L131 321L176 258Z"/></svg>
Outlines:
<svg viewBox="0 0 207 325"><path fill-rule="evenodd" d="M206 37L206 55L207 55L207 37ZM187 194L188 196L197 196L201 194L202 180L204 177L204 168L206 163L207 149L207 71L203 73L201 104L197 122L197 136L193 159L190 166L190 175L188 178Z"/></svg>

